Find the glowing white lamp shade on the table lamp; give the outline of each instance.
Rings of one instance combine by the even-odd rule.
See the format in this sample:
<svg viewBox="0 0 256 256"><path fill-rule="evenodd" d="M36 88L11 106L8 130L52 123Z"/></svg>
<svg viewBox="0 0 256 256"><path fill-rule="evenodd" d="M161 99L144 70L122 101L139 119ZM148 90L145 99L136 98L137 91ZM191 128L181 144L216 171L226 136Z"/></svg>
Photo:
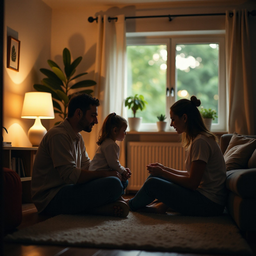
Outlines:
<svg viewBox="0 0 256 256"><path fill-rule="evenodd" d="M52 94L49 92L26 92L21 111L22 118L53 119Z"/></svg>

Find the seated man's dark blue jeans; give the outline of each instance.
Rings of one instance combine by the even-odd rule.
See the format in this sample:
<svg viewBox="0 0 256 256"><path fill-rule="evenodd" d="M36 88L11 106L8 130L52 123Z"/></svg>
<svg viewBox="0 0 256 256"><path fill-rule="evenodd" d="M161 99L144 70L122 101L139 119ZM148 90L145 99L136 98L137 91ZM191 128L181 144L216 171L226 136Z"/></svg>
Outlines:
<svg viewBox="0 0 256 256"><path fill-rule="evenodd" d="M60 189L43 214L86 213L94 207L116 201L128 185L117 177L106 177L83 184L70 184Z"/></svg>

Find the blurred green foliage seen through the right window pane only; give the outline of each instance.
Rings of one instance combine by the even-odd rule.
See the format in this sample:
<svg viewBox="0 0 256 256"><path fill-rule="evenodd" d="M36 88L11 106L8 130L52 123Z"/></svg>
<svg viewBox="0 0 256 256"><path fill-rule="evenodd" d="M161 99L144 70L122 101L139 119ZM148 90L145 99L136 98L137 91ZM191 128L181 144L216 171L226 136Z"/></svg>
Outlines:
<svg viewBox="0 0 256 256"><path fill-rule="evenodd" d="M198 66L188 67L186 70L178 69L177 55L186 59L193 57ZM177 100L184 98L179 96L179 92L186 90L187 99L196 95L204 108L215 109L218 113L218 59L218 44L176 45ZM213 123L217 122L218 118L215 118Z"/></svg>

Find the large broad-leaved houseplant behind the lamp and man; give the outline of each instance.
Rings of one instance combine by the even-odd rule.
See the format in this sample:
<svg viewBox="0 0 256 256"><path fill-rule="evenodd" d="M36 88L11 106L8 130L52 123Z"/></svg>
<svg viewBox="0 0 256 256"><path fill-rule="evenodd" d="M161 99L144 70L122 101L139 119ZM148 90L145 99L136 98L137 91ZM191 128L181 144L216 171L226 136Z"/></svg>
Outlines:
<svg viewBox="0 0 256 256"><path fill-rule="evenodd" d="M64 120L68 114L68 101L70 99L70 90L89 87L95 85L96 82L93 80L82 80L80 82L76 82L75 84L71 84L70 82L74 82L74 80L80 76L84 76L88 74L87 72L78 74L74 76L76 72L76 67L82 60L82 56L76 58L73 62L71 62L71 54L70 51L65 48L62 53L63 63L64 63L64 72L52 60L47 60L50 69L40 68L40 71L47 76L42 80L42 84L34 84L34 88L39 92L50 92L52 94L52 103L54 107L54 113L58 113L59 116ZM76 91L77 92L77 91ZM84 92L87 94L91 94L93 90L81 90L79 92ZM61 121L60 121L61 122ZM55 124L58 124L57 122Z"/></svg>

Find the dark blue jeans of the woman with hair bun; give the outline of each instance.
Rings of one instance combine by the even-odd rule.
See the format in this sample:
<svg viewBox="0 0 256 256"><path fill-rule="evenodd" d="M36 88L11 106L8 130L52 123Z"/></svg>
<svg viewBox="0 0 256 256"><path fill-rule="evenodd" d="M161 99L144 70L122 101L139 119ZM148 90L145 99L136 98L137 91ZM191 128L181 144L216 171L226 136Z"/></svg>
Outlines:
<svg viewBox="0 0 256 256"><path fill-rule="evenodd" d="M176 212L191 216L214 216L223 213L224 206L212 202L198 191L181 187L162 177L150 175L138 193L129 201L132 211L155 199Z"/></svg>

